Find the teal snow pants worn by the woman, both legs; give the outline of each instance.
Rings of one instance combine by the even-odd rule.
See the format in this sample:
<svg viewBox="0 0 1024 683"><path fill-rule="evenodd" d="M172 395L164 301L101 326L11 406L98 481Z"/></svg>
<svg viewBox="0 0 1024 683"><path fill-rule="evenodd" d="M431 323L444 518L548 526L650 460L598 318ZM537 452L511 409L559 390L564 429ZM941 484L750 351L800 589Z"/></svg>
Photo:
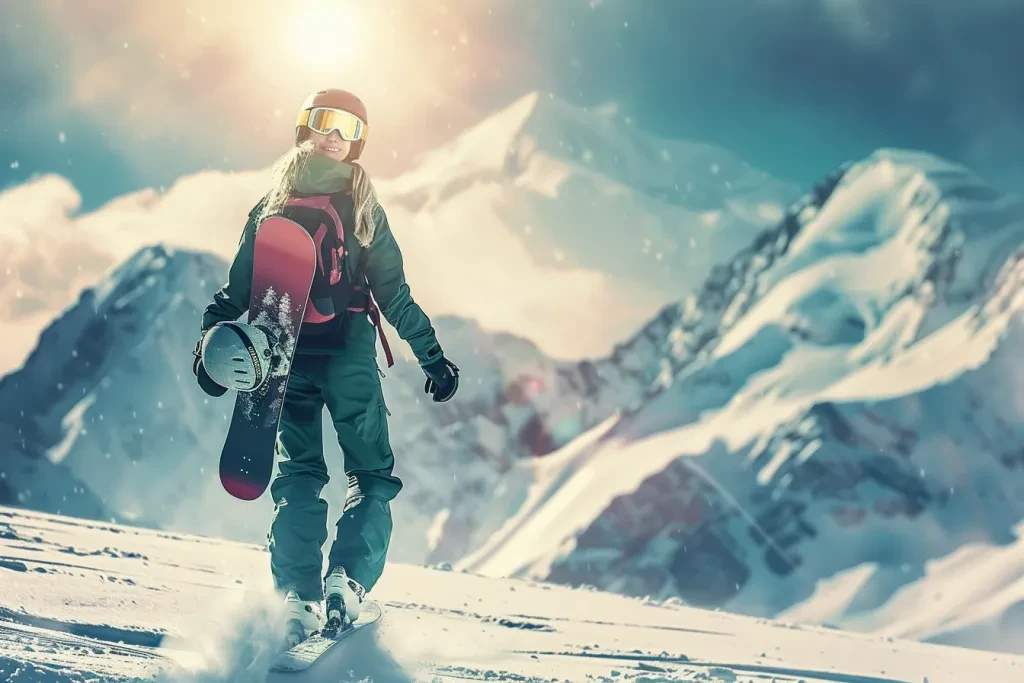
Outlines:
<svg viewBox="0 0 1024 683"><path fill-rule="evenodd" d="M371 344L373 342L371 341ZM324 597L323 547L330 480L324 458L324 407L338 432L348 497L328 555L328 571L343 566L369 591L384 570L391 539L390 501L401 489L391 474L386 408L373 356L296 354L278 439L280 473L270 484L270 570L279 591L302 600Z"/></svg>

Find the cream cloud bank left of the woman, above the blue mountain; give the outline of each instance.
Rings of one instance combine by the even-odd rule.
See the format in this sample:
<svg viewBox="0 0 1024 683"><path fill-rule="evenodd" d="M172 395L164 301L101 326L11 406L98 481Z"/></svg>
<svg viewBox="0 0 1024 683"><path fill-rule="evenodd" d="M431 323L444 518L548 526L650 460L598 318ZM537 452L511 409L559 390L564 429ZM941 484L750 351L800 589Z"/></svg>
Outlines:
<svg viewBox="0 0 1024 683"><path fill-rule="evenodd" d="M267 176L198 173L84 214L80 194L58 175L0 191L0 374L20 365L83 288L140 247L164 242L230 258Z"/></svg>

